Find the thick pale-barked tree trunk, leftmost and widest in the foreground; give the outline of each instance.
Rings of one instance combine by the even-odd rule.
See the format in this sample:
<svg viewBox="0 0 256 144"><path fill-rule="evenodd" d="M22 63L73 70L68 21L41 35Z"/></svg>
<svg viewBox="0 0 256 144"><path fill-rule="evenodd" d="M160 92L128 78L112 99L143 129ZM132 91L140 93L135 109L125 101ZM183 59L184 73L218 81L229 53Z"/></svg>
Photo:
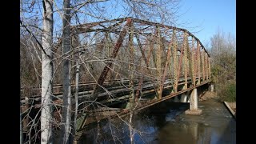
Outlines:
<svg viewBox="0 0 256 144"><path fill-rule="evenodd" d="M42 1L43 14L43 34L42 34L42 112L41 112L41 143L52 143L52 78L53 62L52 61L52 43L53 43L53 1Z"/></svg>

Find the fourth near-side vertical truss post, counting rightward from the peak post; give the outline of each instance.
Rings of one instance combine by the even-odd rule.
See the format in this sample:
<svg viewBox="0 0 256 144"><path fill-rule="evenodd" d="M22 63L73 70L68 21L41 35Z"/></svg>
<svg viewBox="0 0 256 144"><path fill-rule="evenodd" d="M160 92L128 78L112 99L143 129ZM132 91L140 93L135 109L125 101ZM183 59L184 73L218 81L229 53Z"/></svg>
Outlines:
<svg viewBox="0 0 256 144"><path fill-rule="evenodd" d="M186 32L184 32L184 38L183 38L183 47L184 47L184 56L183 56L183 70L184 70L184 78L185 78L185 84L182 88L182 90L186 90L187 89L187 34Z"/></svg>

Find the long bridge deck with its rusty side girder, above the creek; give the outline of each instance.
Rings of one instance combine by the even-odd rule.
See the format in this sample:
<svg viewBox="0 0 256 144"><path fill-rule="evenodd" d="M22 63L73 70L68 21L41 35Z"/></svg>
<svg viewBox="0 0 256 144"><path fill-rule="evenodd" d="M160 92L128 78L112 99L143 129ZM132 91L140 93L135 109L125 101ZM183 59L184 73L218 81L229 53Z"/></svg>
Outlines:
<svg viewBox="0 0 256 144"><path fill-rule="evenodd" d="M196 78L196 82L198 82L198 85L192 86L191 78L188 78L188 88L182 89L182 86L185 85L185 78L180 78L178 82L178 91L173 91L173 81L170 79L166 79L166 82L164 82L163 86L163 94L162 98L158 99L155 98L157 95L156 89L158 87L157 82L145 82L142 86L142 95L138 99L138 106L133 111L142 110L146 107L153 106L154 104L158 102L165 101L166 99L173 98L174 96L177 96L178 94L185 93L186 91L192 90L198 86L205 85L206 83L211 82L209 78L205 82L202 82L202 78L200 78L200 82L198 82L198 78ZM114 84L117 81L114 82L106 82ZM123 83L125 82L125 84ZM104 118L114 118L114 117L124 117L127 114L130 114L130 109L127 109L126 107L123 107L121 105L118 105L118 103L122 103L124 105L127 104L127 102L130 102L130 88L127 85L127 82L129 80L124 80L122 84L124 85L117 85L116 86L109 86L106 87L106 90L108 92L102 91L100 94L98 94L98 99L95 101L96 105L98 105L98 108L95 108L94 110L85 110L83 109L78 110L78 122L82 121L79 118L82 118L82 111L86 112L86 121L83 124L83 126L79 127L79 130L83 130L86 128L86 126L90 126L90 124L94 124L95 122L98 122ZM89 86L92 82L88 83L82 83L81 86ZM120 82L118 81L118 84ZM135 90L138 88L138 83L135 84ZM37 90L37 89L34 89ZM86 91L80 91L78 94L78 100L79 103L85 102L90 100L90 96L92 93L92 88ZM61 93L54 94L54 102L56 105L61 105L62 101L59 102L59 99L62 98ZM28 101L29 100L29 101ZM22 113L23 115L26 114L26 112L29 111L31 106L34 106L34 109L40 110L41 108L41 97L34 96L31 98L28 98L28 100L23 99L22 102ZM26 106L26 108L25 108Z"/></svg>

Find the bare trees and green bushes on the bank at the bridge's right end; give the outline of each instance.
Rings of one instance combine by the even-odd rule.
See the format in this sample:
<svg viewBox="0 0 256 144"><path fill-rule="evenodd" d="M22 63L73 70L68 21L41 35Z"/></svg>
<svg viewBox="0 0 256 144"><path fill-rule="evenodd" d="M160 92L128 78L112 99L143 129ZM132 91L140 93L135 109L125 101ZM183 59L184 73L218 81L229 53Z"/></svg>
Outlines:
<svg viewBox="0 0 256 144"><path fill-rule="evenodd" d="M210 38L211 71L220 100L236 102L236 39L218 30Z"/></svg>

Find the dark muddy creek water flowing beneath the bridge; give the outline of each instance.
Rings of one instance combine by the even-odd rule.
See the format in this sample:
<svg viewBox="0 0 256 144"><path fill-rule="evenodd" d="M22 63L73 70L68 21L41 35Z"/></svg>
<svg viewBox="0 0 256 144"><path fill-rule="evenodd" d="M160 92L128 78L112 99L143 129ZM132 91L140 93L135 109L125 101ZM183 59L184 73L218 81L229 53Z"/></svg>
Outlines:
<svg viewBox="0 0 256 144"><path fill-rule="evenodd" d="M161 102L134 114L134 143L236 143L236 122L217 99L198 102L199 116L186 115L189 103ZM98 123L78 143L130 143L126 118Z"/></svg>

